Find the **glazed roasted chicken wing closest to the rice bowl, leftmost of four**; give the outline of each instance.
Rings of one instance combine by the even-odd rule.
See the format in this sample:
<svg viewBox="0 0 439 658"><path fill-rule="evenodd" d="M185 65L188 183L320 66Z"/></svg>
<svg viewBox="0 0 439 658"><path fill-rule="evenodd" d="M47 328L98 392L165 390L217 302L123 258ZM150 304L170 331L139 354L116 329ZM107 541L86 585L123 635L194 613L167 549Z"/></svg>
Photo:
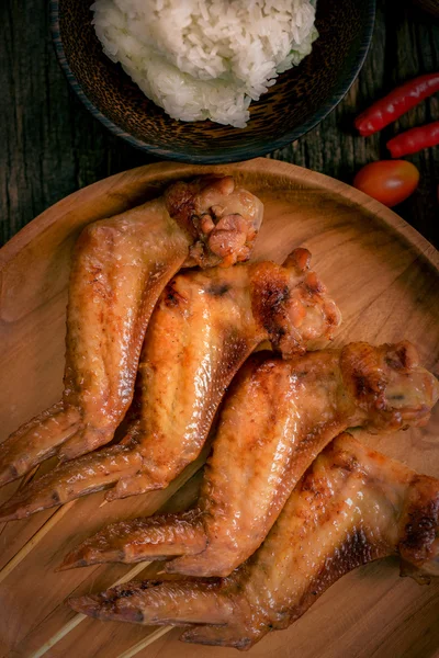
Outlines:
<svg viewBox="0 0 439 658"><path fill-rule="evenodd" d="M70 274L63 400L1 444L0 484L60 446L71 458L111 441L131 405L146 327L164 287L181 266L246 260L262 211L232 177L204 177L85 228Z"/></svg>

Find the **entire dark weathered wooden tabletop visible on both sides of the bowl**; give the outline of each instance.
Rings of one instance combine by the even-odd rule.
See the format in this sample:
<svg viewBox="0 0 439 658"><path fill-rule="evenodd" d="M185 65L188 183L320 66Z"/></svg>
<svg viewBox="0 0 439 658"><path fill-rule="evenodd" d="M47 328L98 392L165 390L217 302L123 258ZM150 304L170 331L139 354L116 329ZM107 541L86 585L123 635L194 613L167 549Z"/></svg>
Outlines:
<svg viewBox="0 0 439 658"><path fill-rule="evenodd" d="M111 135L70 90L50 41L48 0L0 2L0 243L67 194L112 173L155 161ZM299 141L271 157L346 182L364 163L386 158L390 136L439 120L432 98L364 139L354 115L396 83L439 68L439 21L412 0L379 0L365 65L338 107ZM409 159L416 193L396 212L439 247L439 148Z"/></svg>

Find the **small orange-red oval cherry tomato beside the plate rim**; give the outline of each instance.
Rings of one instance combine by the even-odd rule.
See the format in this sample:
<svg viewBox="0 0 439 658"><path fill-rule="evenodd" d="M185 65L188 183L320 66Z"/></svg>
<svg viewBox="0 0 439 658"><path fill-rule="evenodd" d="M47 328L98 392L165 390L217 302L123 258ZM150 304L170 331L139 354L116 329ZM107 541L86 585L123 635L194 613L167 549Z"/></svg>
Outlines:
<svg viewBox="0 0 439 658"><path fill-rule="evenodd" d="M365 164L353 179L353 186L392 208L417 188L419 171L406 160L379 160Z"/></svg>

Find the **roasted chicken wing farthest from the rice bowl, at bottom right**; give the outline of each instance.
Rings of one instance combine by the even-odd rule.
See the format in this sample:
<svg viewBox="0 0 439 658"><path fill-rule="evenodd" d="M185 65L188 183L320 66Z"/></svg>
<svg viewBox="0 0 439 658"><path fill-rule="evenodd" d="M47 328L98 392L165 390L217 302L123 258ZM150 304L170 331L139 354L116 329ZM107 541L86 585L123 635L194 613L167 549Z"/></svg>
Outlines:
<svg viewBox="0 0 439 658"><path fill-rule="evenodd" d="M341 576L389 555L439 576L439 480L341 434L296 485L259 551L229 577L144 581L70 599L100 620L187 626L190 643L249 649L286 628Z"/></svg>

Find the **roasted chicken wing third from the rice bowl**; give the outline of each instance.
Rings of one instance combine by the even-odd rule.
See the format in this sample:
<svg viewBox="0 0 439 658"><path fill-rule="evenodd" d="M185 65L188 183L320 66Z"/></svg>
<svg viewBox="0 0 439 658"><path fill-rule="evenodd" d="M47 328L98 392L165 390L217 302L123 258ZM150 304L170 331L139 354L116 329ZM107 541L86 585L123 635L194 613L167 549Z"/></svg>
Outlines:
<svg viewBox="0 0 439 658"><path fill-rule="evenodd" d="M63 566L176 556L166 571L228 576L263 542L329 441L349 427L424 426L438 395L408 342L350 343L291 361L257 353L225 400L196 509L114 523Z"/></svg>

